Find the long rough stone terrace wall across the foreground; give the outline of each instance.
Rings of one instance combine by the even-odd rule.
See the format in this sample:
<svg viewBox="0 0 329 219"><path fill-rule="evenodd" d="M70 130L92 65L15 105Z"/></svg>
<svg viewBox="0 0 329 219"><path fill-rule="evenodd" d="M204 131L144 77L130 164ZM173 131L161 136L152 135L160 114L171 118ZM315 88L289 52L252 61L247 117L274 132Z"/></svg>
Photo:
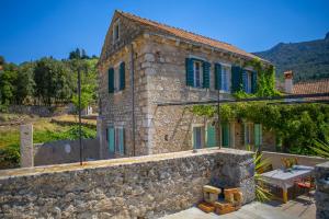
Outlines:
<svg viewBox="0 0 329 219"><path fill-rule="evenodd" d="M208 183L254 199L252 153L202 149L0 172L0 218L158 218L202 199Z"/></svg>

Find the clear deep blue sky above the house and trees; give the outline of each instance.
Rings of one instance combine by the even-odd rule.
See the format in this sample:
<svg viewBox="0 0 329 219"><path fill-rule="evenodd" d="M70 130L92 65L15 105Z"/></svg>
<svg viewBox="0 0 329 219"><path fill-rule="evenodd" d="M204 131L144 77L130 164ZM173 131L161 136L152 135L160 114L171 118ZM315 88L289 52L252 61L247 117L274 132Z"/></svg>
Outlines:
<svg viewBox="0 0 329 219"><path fill-rule="evenodd" d="M247 51L329 32L328 0L0 0L0 55L16 64L76 47L99 56L115 9Z"/></svg>

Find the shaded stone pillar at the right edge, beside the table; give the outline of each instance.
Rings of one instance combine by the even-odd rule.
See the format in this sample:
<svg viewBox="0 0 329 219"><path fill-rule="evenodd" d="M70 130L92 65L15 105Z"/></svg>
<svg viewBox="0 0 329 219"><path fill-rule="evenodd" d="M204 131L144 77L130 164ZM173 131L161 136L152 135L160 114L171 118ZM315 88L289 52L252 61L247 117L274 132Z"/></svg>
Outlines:
<svg viewBox="0 0 329 219"><path fill-rule="evenodd" d="M329 218L329 162L317 164L316 174L316 207L317 219Z"/></svg>

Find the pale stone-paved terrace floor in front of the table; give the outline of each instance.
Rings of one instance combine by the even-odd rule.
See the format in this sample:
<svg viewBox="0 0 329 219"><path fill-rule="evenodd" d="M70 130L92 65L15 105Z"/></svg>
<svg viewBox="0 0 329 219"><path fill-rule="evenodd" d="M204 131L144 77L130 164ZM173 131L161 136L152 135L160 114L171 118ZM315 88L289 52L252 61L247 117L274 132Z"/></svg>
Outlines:
<svg viewBox="0 0 329 219"><path fill-rule="evenodd" d="M298 196L286 204L272 200L268 204L253 201L242 206L238 211L218 216L216 214L205 214L196 207L166 216L161 219L315 219L316 206L314 197L311 201L307 196Z"/></svg>

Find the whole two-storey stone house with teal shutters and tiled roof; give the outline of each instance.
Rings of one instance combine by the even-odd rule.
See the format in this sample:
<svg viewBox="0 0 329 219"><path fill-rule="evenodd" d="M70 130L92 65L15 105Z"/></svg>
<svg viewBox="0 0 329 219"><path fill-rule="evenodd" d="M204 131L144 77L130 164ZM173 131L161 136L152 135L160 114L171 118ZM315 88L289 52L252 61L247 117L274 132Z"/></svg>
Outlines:
<svg viewBox="0 0 329 219"><path fill-rule="evenodd" d="M232 99L240 85L256 92L257 72L242 68L254 58L230 44L115 11L98 65L100 157L262 142L273 148L273 135L260 124L218 128L184 104L163 104Z"/></svg>

